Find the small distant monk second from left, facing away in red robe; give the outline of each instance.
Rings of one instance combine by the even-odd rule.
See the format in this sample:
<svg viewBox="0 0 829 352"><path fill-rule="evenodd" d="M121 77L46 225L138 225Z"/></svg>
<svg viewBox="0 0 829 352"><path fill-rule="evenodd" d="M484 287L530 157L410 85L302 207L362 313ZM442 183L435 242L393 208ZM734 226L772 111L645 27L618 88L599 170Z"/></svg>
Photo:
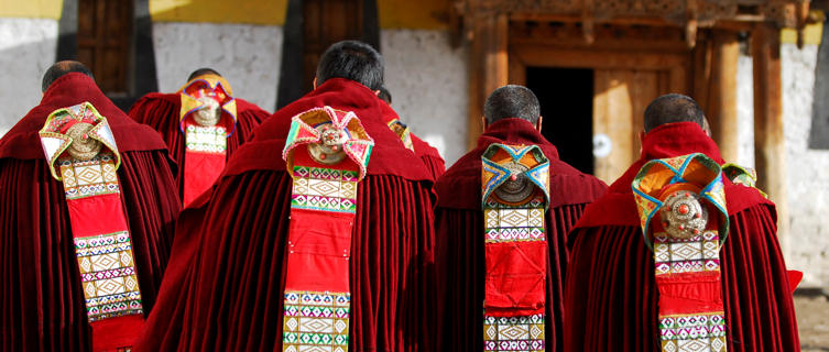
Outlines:
<svg viewBox="0 0 829 352"><path fill-rule="evenodd" d="M151 92L132 106L135 121L161 133L178 163L176 184L185 206L204 193L225 163L269 112L233 96L212 68L199 68L174 94Z"/></svg>

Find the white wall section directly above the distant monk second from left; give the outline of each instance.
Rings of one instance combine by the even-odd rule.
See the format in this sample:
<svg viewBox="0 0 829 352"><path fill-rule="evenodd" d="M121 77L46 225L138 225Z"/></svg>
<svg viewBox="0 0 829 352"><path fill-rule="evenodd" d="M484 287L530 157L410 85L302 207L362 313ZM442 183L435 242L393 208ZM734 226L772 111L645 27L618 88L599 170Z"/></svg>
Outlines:
<svg viewBox="0 0 829 352"><path fill-rule="evenodd" d="M233 96L273 111L282 62L282 26L154 22L159 89L178 90L192 72L210 67Z"/></svg>

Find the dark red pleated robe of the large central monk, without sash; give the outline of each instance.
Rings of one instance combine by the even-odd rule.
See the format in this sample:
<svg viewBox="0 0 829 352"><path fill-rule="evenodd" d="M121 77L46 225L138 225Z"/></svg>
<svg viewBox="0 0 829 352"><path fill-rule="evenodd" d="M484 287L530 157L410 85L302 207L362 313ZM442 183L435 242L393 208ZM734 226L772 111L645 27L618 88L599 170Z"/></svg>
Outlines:
<svg viewBox="0 0 829 352"><path fill-rule="evenodd" d="M379 103L364 86L330 79L254 131L183 213L140 351L282 349L292 179L281 153L290 119L326 105L354 111L375 142L352 229L349 349L434 350L432 176Z"/></svg>

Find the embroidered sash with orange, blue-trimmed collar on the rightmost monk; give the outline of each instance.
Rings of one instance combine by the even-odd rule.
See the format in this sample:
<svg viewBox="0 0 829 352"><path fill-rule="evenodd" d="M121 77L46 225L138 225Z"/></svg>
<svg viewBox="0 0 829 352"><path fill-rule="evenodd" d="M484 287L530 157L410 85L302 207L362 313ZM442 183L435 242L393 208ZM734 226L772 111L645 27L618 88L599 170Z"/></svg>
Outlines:
<svg viewBox="0 0 829 352"><path fill-rule="evenodd" d="M720 166L700 153L654 160L631 187L654 252L662 351L726 351L719 253L729 219Z"/></svg>

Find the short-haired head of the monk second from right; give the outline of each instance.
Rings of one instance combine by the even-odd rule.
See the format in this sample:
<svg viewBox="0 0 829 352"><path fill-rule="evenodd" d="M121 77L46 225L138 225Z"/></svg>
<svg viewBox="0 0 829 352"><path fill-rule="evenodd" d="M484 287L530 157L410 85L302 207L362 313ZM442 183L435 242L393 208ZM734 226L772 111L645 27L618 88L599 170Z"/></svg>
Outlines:
<svg viewBox="0 0 829 352"><path fill-rule="evenodd" d="M509 85L498 88L483 105L483 117L489 124L506 118L519 118L536 124L539 116L538 98L524 86Z"/></svg>

